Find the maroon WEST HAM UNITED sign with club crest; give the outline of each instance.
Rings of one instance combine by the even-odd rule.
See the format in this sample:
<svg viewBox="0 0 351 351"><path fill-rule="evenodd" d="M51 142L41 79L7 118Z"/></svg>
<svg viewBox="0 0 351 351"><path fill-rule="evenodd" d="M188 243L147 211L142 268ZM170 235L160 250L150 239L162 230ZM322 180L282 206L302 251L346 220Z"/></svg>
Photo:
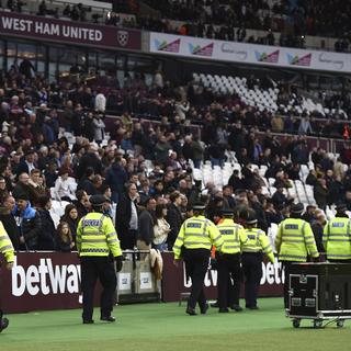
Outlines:
<svg viewBox="0 0 351 351"><path fill-rule="evenodd" d="M61 21L0 11L0 34L23 38L105 48L140 50L140 31L73 21Z"/></svg>

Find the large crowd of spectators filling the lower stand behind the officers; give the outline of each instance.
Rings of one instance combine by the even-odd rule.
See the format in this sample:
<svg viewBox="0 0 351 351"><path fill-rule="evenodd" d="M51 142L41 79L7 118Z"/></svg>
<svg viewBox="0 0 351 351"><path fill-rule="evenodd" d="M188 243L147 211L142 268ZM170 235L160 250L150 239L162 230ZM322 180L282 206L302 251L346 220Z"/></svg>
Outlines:
<svg viewBox="0 0 351 351"><path fill-rule="evenodd" d="M75 249L77 223L90 211L93 194L106 196L105 213L115 219L124 249L170 249L199 200L207 204L213 220L223 207L234 208L238 219L254 208L265 230L286 217L294 201L286 189L301 179L301 167L310 156L308 128L283 139L268 129L259 135L258 126L267 127L262 121L273 124L269 114L264 120L239 97L216 101L211 91L196 89L163 83L160 71L151 87L139 76L128 76L116 90L122 113L111 120L104 115L110 95L100 88L77 81L47 84L26 59L2 72L0 219L15 248ZM133 118L133 113L158 121ZM113 123L106 140L107 120ZM194 178L205 160L220 166L234 152L241 172L234 171L223 189ZM312 160L315 170L307 183L314 185L318 206L343 199L351 210L351 173L341 163L351 163L349 145L340 160L321 148L313 150ZM264 177L275 179L272 196L263 192L264 181L252 165L265 166ZM53 200L67 203L57 227Z"/></svg>

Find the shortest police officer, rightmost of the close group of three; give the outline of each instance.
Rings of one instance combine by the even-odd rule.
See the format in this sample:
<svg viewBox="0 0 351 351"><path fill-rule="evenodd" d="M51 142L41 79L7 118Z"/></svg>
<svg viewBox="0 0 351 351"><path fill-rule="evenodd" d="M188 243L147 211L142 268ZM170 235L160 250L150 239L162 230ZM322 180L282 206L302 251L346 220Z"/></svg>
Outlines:
<svg viewBox="0 0 351 351"><path fill-rule="evenodd" d="M248 211L245 226L248 240L242 245L241 259L245 274L246 308L258 309L257 294L262 278L263 253L272 263L274 263L274 254L265 233L257 228L257 216L253 210Z"/></svg>

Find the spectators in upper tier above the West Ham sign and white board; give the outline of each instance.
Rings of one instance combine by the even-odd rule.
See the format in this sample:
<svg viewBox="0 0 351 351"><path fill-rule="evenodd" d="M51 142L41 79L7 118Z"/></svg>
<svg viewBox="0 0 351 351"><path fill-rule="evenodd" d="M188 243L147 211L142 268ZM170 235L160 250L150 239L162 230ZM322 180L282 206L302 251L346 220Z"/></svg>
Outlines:
<svg viewBox="0 0 351 351"><path fill-rule="evenodd" d="M131 2L131 3L129 3ZM69 18L72 21L92 21L107 25L135 27L147 31L182 34L264 45L305 47L306 35L335 37L336 52L349 52L351 5L347 1L274 1L264 0L168 0L145 1L157 10L157 15L140 15L138 1L121 1L117 12L95 12L82 3L67 4L64 9L42 0L37 15ZM22 12L24 2L8 0L4 7ZM1 2L0 2L1 7ZM133 13L123 16L120 13ZM181 22L179 22L181 21ZM263 35L248 35L247 30L263 31ZM280 33L276 37L273 32Z"/></svg>

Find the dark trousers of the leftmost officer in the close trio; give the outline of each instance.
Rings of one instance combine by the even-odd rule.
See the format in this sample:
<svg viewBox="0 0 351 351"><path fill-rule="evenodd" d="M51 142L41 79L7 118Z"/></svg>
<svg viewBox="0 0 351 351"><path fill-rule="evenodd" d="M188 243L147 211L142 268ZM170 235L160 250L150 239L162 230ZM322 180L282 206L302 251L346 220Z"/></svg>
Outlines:
<svg viewBox="0 0 351 351"><path fill-rule="evenodd" d="M186 275L191 278L191 293L188 305L192 308L199 303L200 308L206 305L204 293L204 279L208 268L210 250L205 249L185 249L184 262Z"/></svg>

